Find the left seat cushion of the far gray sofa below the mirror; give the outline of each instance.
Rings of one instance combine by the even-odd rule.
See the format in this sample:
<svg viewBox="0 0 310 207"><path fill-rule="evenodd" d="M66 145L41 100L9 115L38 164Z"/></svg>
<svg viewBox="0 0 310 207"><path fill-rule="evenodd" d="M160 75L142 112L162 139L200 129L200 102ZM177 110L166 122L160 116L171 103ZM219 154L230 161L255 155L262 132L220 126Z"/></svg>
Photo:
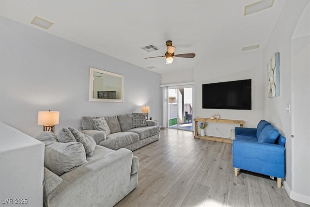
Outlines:
<svg viewBox="0 0 310 207"><path fill-rule="evenodd" d="M137 133L118 132L109 134L107 140L100 142L99 145L115 150L136 142L139 142L139 135Z"/></svg>

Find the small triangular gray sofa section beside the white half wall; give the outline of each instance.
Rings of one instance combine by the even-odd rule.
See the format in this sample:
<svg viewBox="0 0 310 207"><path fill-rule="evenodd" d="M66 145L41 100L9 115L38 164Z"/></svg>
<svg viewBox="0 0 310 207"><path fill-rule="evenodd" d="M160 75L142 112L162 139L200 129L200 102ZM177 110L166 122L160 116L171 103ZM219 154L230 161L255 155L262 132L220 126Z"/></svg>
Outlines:
<svg viewBox="0 0 310 207"><path fill-rule="evenodd" d="M53 192L56 188L58 188L62 183L63 179L54 174L52 171L48 170L44 167L44 194L48 196L51 192Z"/></svg>

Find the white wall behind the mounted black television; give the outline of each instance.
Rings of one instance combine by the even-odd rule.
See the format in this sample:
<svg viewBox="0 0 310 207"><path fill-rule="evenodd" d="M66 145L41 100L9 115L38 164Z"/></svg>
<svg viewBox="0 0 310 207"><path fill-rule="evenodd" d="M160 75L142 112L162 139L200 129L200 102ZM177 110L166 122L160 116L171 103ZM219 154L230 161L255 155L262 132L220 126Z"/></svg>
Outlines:
<svg viewBox="0 0 310 207"><path fill-rule="evenodd" d="M194 116L208 118L218 113L222 119L245 120L245 127L256 127L263 118L262 74L262 53L259 50L247 51L242 57L196 65ZM202 109L202 84L245 79L252 80L252 110ZM209 123L206 132L207 135L228 138L234 127L239 125Z"/></svg>

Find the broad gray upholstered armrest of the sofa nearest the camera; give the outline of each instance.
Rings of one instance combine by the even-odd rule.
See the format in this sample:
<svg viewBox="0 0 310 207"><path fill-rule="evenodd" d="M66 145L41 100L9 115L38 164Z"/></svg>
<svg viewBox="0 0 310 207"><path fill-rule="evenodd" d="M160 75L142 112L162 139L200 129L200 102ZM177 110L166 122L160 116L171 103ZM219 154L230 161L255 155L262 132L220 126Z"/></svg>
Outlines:
<svg viewBox="0 0 310 207"><path fill-rule="evenodd" d="M133 155L121 148L63 174L62 185L48 197L48 205L114 206L131 182Z"/></svg>

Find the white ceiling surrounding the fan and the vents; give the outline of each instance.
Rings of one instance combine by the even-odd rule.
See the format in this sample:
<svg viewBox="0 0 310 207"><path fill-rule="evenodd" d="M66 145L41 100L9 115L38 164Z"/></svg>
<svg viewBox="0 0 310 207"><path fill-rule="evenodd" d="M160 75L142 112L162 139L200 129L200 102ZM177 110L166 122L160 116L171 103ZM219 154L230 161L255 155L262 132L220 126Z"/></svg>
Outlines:
<svg viewBox="0 0 310 207"><path fill-rule="evenodd" d="M284 0L244 16L257 0L0 0L0 16L100 51L159 74L191 70L195 64L261 52L273 31ZM30 24L34 16L54 23L45 30ZM166 65L166 41L175 57ZM147 52L150 44L159 48ZM242 51L243 47L260 48Z"/></svg>

